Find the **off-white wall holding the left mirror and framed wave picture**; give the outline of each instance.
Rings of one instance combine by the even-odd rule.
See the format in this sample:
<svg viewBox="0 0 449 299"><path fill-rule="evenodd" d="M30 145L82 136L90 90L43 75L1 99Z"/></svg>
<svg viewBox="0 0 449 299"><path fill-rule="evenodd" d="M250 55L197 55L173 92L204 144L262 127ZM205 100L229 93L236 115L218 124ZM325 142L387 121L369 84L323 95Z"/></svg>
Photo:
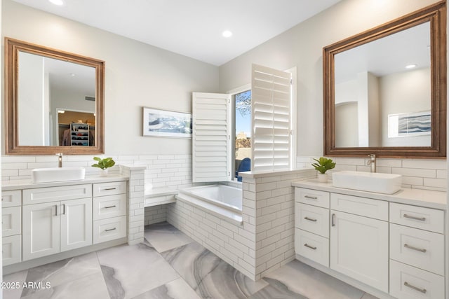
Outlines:
<svg viewBox="0 0 449 299"><path fill-rule="evenodd" d="M191 112L192 91L217 92L217 67L11 0L4 0L2 6L2 38L8 36L106 62L106 153L191 153L190 139L142 137L142 106Z"/></svg>

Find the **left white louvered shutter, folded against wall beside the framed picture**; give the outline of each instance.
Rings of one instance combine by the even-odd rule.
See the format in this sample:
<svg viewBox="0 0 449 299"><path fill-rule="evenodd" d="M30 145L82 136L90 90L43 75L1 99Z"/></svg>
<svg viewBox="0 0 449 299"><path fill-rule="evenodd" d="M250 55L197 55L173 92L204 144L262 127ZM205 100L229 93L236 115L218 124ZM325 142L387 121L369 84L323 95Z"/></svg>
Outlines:
<svg viewBox="0 0 449 299"><path fill-rule="evenodd" d="M230 96L193 92L192 181L231 179Z"/></svg>

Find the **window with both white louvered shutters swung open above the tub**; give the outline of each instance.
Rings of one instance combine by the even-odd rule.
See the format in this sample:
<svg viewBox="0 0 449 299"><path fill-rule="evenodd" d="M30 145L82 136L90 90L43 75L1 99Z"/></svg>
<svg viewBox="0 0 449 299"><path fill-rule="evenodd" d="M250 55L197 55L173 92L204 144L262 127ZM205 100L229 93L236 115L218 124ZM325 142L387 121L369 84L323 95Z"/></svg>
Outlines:
<svg viewBox="0 0 449 299"><path fill-rule="evenodd" d="M232 180L244 158L250 158L252 171L295 165L295 74L295 68L284 72L253 64L250 86L229 94L193 93L194 183Z"/></svg>

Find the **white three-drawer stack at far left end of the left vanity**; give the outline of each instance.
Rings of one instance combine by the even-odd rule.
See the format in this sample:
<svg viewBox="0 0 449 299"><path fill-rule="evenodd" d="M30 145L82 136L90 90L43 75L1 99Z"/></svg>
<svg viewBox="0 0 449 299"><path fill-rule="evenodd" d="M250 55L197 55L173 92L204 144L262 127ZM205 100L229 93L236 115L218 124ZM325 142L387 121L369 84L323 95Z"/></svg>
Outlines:
<svg viewBox="0 0 449 299"><path fill-rule="evenodd" d="M22 191L1 193L3 265L22 261Z"/></svg>

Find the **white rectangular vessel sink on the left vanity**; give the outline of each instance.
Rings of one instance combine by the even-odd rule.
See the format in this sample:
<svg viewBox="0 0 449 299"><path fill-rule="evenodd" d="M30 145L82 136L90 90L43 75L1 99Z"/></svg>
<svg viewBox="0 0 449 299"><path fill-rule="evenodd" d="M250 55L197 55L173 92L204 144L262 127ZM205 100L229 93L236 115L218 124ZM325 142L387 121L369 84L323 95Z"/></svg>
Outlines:
<svg viewBox="0 0 449 299"><path fill-rule="evenodd" d="M36 168L31 172L33 183L51 183L53 181L79 181L86 176L83 167Z"/></svg>

